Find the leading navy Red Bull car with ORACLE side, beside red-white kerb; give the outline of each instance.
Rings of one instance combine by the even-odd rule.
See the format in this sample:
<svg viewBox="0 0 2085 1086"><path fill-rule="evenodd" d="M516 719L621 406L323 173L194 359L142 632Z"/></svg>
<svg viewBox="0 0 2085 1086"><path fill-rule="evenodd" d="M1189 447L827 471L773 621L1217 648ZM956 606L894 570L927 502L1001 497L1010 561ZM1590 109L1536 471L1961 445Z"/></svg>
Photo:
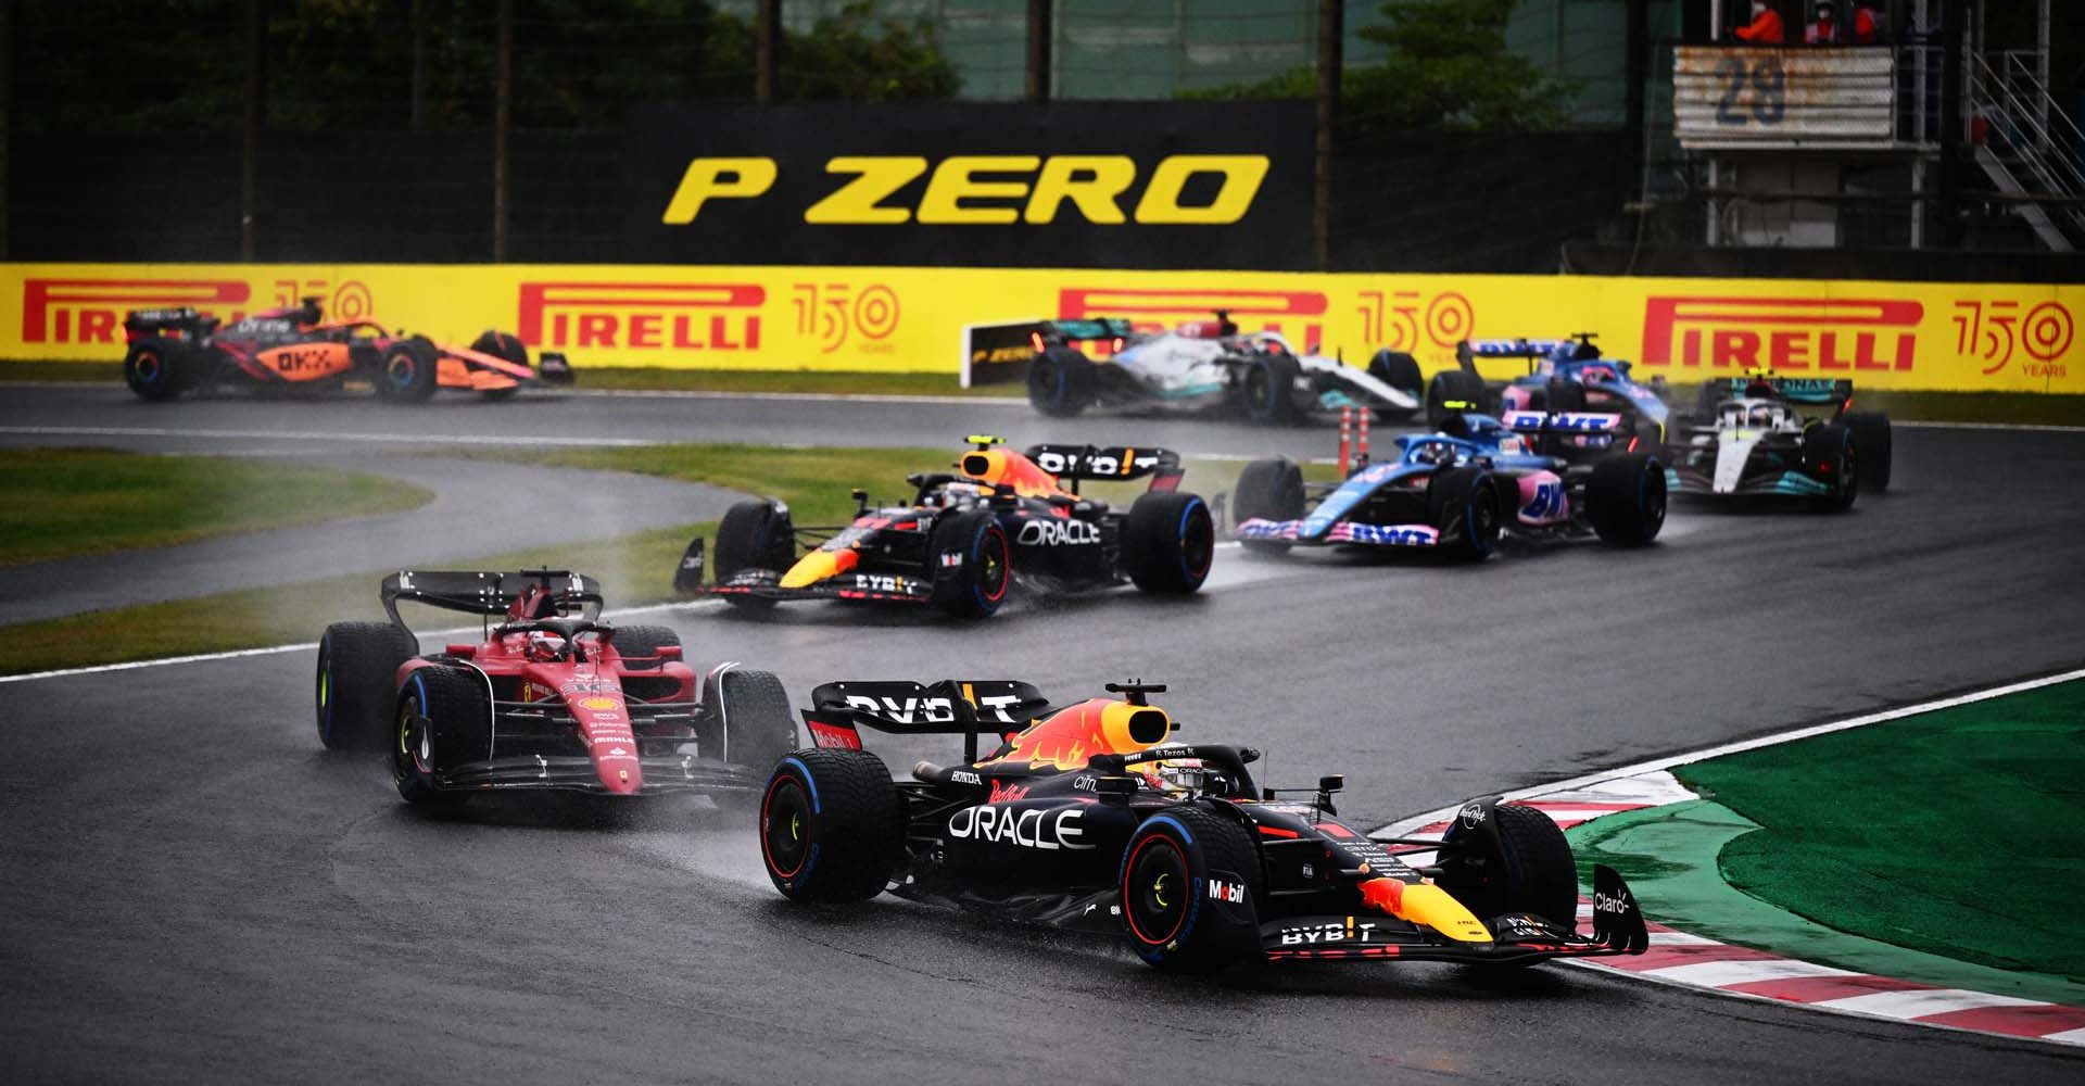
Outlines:
<svg viewBox="0 0 2085 1086"><path fill-rule="evenodd" d="M1547 815L1468 803L1432 865L1343 823L1326 775L1307 798L1253 782L1251 748L1178 744L1163 686L1051 707L1022 682L832 682L805 711L815 748L761 796L767 878L792 900L884 890L1122 936L1161 969L1238 961L1535 963L1639 955L1643 915L1595 867L1593 932ZM963 761L894 782L861 730L957 734ZM978 736L997 744L978 757Z"/></svg>

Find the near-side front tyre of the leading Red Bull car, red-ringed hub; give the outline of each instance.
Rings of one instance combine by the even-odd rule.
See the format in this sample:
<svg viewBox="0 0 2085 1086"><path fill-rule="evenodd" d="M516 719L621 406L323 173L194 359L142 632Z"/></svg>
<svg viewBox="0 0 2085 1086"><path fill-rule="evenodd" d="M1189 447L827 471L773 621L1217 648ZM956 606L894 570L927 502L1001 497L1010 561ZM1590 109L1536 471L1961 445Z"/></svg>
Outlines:
<svg viewBox="0 0 2085 1086"><path fill-rule="evenodd" d="M1166 807L1138 823L1115 882L1130 948L1157 969L1222 969L1259 951L1259 848L1216 811Z"/></svg>

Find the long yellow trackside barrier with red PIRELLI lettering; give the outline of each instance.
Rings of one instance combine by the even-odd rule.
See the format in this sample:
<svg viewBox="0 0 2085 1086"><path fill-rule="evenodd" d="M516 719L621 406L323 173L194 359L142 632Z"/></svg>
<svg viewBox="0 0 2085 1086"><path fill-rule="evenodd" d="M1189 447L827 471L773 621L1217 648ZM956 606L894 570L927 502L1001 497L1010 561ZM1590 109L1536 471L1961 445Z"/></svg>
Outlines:
<svg viewBox="0 0 2085 1086"><path fill-rule="evenodd" d="M225 319L317 296L446 340L488 327L580 367L853 369L955 375L967 325L1228 308L1247 329L1366 363L1453 365L1472 336L1597 331L1672 381L1772 365L1862 388L2085 392L2085 286L915 267L0 265L0 356L117 361L123 313ZM1020 344L976 363L1007 363ZM1503 373L1501 373L1503 375Z"/></svg>

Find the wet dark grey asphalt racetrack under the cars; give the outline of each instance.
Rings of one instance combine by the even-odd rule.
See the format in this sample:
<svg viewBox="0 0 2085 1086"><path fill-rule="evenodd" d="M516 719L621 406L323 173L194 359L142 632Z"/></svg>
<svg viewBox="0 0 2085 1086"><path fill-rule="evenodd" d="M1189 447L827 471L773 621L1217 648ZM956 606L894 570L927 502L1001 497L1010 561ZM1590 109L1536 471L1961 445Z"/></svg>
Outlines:
<svg viewBox="0 0 2085 1086"><path fill-rule="evenodd" d="M609 404L659 411L582 406ZM259 406L246 419L294 427L304 419L290 406L334 404ZM673 406L686 436L746 415ZM857 409L790 404L821 431L880 440ZM88 425L127 411L106 398L104 423ZM978 429L976 411L905 411L907 434L928 440ZM186 423L188 409L150 415ZM361 415L386 425L390 413ZM1011 421L1017 440L1040 438L1034 419ZM1318 452L1326 436L1203 425L1163 440ZM1166 680L1182 738L1261 746L1272 784L1345 771L1343 813L1374 825L2075 667L2081 469L2085 436L1899 431L1897 490L1851 515L1683 509L1645 552L1580 546L1466 569L1226 550L1193 600L1122 592L972 627L830 604L667 621L694 661L771 667L796 696L828 677L1017 675L1065 694ZM423 819L377 765L319 750L309 682L298 652L0 684L8 1080L1897 1084L2085 1071L2075 1048L1587 969L1178 980L1105 944L894 900L799 911L767 886L744 815ZM892 767L947 755L880 748Z"/></svg>

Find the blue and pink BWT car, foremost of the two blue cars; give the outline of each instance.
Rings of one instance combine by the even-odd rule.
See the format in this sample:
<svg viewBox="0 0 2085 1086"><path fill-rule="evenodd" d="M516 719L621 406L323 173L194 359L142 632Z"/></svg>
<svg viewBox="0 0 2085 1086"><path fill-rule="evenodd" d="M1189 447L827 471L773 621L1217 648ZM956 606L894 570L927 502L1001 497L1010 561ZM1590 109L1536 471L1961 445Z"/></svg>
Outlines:
<svg viewBox="0 0 2085 1086"><path fill-rule="evenodd" d="M1466 559L1501 536L1589 538L1641 546L1666 523L1666 467L1655 452L1585 459L1580 436L1612 438L1620 415L1457 413L1434 434L1397 438L1395 461L1364 465L1339 486L1309 486L1286 459L1253 461L1232 498L1247 550L1291 546L1422 548ZM1574 456L1551 454L1570 448ZM1316 498L1316 504L1311 504Z"/></svg>

